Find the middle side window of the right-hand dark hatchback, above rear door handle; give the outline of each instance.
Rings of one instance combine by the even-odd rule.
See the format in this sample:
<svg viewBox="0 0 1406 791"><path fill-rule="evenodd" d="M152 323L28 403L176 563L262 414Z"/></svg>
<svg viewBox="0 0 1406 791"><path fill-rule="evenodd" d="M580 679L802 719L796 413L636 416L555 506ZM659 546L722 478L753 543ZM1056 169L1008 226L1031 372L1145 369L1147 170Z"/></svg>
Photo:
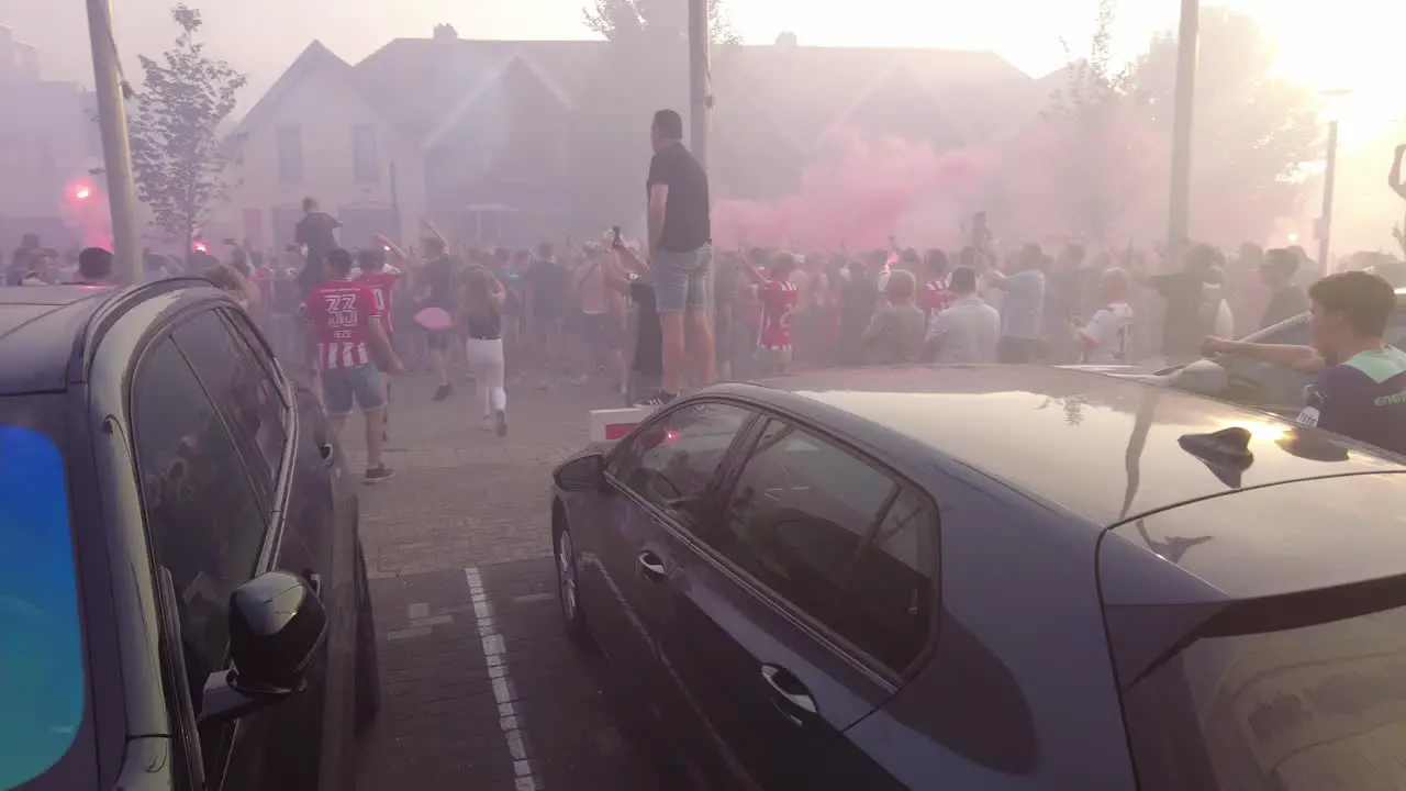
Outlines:
<svg viewBox="0 0 1406 791"><path fill-rule="evenodd" d="M773 421L742 467L720 529L706 540L844 633L852 621L838 611L845 581L896 491L893 479L868 462Z"/></svg>

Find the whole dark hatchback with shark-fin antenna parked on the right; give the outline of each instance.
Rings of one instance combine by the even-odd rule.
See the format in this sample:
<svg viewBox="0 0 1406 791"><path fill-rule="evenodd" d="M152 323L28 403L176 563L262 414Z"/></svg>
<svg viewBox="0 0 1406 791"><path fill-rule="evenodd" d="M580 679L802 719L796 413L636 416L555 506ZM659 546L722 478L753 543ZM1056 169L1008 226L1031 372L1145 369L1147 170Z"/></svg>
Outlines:
<svg viewBox="0 0 1406 791"><path fill-rule="evenodd" d="M1067 369L714 386L555 469L561 612L713 788L1406 788L1403 472Z"/></svg>

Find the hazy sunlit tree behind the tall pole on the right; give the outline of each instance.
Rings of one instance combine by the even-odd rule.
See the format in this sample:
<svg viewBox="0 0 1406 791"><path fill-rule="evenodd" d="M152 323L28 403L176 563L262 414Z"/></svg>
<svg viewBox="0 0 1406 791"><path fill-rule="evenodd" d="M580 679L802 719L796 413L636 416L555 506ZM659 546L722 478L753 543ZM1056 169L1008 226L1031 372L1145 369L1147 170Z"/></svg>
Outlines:
<svg viewBox="0 0 1406 791"><path fill-rule="evenodd" d="M1192 144L1192 231L1216 242L1258 239L1292 215L1302 167L1319 159L1323 127L1308 86L1274 75L1275 42L1254 17L1222 7L1201 13ZM1177 41L1160 35L1133 63L1136 93L1170 138Z"/></svg>

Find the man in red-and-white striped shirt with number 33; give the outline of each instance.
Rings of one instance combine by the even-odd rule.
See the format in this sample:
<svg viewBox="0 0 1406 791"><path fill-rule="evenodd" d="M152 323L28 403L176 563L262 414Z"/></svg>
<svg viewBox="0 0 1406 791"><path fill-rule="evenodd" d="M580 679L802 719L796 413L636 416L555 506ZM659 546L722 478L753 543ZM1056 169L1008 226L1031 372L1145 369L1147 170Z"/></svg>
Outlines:
<svg viewBox="0 0 1406 791"><path fill-rule="evenodd" d="M385 380L377 360L399 373L401 360L381 327L382 311L366 283L352 280L352 253L336 248L323 260L325 280L308 290L302 317L308 322L308 367L322 386L322 405L332 429L340 432L354 405L366 417L366 483L395 473L381 462L385 442Z"/></svg>

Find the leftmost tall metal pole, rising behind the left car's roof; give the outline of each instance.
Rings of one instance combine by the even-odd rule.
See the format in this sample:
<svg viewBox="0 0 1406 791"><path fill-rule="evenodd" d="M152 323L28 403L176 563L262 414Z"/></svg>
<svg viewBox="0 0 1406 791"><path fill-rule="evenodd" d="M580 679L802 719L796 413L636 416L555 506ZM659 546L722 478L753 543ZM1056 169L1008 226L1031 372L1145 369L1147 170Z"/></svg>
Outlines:
<svg viewBox="0 0 1406 791"><path fill-rule="evenodd" d="M136 189L132 184L132 149L127 139L127 107L112 35L112 1L87 0L89 38L93 45L93 87L97 122L103 132L103 169L112 215L114 274L122 283L142 281L142 252L136 238Z"/></svg>

